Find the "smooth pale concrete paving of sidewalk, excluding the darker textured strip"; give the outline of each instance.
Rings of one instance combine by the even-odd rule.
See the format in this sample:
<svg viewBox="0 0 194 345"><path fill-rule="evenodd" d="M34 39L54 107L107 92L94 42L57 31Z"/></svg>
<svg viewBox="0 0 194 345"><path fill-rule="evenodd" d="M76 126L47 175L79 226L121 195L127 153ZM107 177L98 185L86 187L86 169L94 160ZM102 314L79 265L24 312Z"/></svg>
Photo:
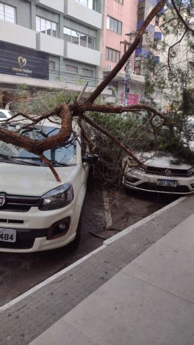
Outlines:
<svg viewBox="0 0 194 345"><path fill-rule="evenodd" d="M31 345L194 344L194 215Z"/></svg>

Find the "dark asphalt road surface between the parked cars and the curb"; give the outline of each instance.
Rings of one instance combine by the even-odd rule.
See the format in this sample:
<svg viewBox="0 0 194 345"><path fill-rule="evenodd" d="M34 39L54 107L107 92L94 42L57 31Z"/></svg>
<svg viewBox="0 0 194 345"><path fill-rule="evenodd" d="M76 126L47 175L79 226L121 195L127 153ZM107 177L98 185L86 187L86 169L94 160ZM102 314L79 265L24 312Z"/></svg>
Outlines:
<svg viewBox="0 0 194 345"><path fill-rule="evenodd" d="M157 199L157 196L125 195L122 192L118 194L117 191L110 193L110 190L108 194L112 206L113 230L108 231L106 237L114 235L115 228L122 230L117 229L118 219L122 220L122 228L126 228L172 201L164 197ZM104 239L95 237L89 232L104 237L106 222L103 195L104 193L94 185L88 188L81 230L82 238L76 250L66 246L40 253L0 253L0 306L101 246Z"/></svg>

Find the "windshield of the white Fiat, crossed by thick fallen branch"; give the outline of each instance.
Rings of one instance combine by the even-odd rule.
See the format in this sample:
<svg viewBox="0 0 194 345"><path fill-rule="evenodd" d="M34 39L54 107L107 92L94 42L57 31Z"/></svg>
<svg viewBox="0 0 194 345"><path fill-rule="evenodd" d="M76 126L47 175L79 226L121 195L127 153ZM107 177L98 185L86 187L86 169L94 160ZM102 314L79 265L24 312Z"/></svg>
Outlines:
<svg viewBox="0 0 194 345"><path fill-rule="evenodd" d="M8 125L9 130L18 130L20 125L10 126ZM20 131L20 134L34 140L42 140L46 139L47 137L51 137L52 135L56 135L59 132L59 128L55 128L52 126L41 126L36 125ZM49 160L53 161L53 164L64 164L64 165L75 165L76 164L76 139L75 136L72 134L68 141L64 142L63 146L52 148L51 150L46 150L43 152L43 155L46 156ZM17 158L15 159L16 164L25 160L28 161L35 161L35 159L39 158L39 156L34 155L23 148L19 148L18 146L12 144L6 144L3 141L0 141L0 155L4 155L6 157ZM0 157L1 158L1 157ZM20 159L21 158L21 159ZM41 164L41 162L40 162ZM36 162L37 165L37 162ZM43 164L44 165L44 164Z"/></svg>

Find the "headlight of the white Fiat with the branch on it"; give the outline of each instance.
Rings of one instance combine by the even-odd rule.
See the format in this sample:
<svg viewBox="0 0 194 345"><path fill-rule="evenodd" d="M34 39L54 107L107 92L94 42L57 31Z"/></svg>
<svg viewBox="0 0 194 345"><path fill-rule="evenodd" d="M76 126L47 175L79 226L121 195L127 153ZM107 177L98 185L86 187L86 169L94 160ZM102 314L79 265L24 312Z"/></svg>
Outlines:
<svg viewBox="0 0 194 345"><path fill-rule="evenodd" d="M74 197L71 184L62 184L61 186L50 190L39 200L39 210L57 210L71 203Z"/></svg>

